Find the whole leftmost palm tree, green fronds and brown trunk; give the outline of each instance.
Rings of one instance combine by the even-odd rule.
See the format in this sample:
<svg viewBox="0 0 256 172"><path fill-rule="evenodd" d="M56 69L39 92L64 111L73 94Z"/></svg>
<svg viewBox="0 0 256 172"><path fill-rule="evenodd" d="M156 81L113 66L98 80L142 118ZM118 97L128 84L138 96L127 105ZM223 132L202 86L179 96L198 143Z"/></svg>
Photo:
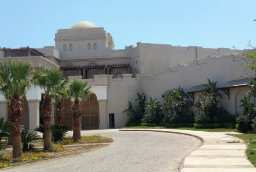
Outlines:
<svg viewBox="0 0 256 172"><path fill-rule="evenodd" d="M20 137L20 120L22 114L21 98L31 85L31 68L29 62L11 61L0 64L0 92L8 102L8 119L13 141L13 158L22 155Z"/></svg>

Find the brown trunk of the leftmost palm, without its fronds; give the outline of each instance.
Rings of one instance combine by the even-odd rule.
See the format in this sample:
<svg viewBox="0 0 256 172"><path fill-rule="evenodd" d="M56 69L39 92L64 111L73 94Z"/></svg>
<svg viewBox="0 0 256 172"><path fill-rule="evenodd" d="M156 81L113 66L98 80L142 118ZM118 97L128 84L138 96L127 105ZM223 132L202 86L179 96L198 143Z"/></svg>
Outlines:
<svg viewBox="0 0 256 172"><path fill-rule="evenodd" d="M22 107L20 102L20 95L14 94L11 98L10 105L8 107L8 114L10 120L10 132L12 133L12 157L18 158L22 156L22 144L20 137L20 120L22 114Z"/></svg>

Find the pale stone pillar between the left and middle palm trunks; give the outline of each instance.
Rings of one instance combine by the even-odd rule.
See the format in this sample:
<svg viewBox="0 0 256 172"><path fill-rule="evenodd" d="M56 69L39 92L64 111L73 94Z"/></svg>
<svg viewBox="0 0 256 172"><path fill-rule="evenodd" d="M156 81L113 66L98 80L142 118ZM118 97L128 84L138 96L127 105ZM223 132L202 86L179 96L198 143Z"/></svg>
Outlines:
<svg viewBox="0 0 256 172"><path fill-rule="evenodd" d="M28 101L28 132L35 132L34 129L39 125L39 106L40 106L40 100L27 100Z"/></svg>

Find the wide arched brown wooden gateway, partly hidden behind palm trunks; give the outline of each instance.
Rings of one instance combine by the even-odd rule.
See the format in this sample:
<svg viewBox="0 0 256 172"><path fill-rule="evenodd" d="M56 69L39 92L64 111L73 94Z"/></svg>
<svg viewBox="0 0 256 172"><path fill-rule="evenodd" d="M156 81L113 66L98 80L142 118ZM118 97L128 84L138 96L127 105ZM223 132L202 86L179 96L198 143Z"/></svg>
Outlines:
<svg viewBox="0 0 256 172"><path fill-rule="evenodd" d="M62 117L62 123L65 126L68 126L69 129L73 128L73 117L71 111L71 102L70 100L63 101L64 105L64 114ZM56 106L55 106L56 112ZM90 94L86 101L82 102L82 111L81 111L81 128L86 129L98 129L99 125L99 116L98 116L98 101L95 94ZM57 116L55 113L55 124L57 124Z"/></svg>

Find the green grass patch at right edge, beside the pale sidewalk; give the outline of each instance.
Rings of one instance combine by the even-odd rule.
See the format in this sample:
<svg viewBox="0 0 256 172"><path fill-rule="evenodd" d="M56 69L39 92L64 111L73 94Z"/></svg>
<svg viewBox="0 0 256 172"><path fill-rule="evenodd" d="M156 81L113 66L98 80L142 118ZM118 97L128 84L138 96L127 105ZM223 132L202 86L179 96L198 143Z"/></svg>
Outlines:
<svg viewBox="0 0 256 172"><path fill-rule="evenodd" d="M246 155L247 158L256 167L256 134L229 134L240 138L247 143Z"/></svg>

